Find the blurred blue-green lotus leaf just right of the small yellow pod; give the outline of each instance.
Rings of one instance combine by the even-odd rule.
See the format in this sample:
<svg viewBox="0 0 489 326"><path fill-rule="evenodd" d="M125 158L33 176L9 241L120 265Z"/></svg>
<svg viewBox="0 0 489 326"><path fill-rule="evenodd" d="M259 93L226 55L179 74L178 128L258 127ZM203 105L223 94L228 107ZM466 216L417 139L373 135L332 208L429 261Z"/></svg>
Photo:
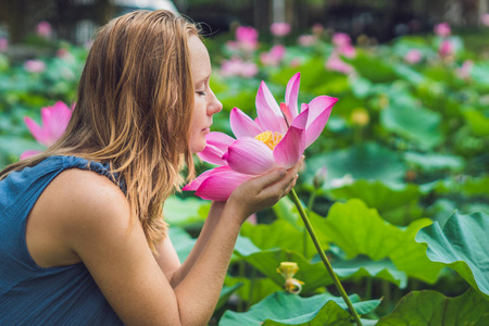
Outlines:
<svg viewBox="0 0 489 326"><path fill-rule="evenodd" d="M390 105L380 113L383 126L416 143L431 149L442 141L441 114L415 105Z"/></svg>

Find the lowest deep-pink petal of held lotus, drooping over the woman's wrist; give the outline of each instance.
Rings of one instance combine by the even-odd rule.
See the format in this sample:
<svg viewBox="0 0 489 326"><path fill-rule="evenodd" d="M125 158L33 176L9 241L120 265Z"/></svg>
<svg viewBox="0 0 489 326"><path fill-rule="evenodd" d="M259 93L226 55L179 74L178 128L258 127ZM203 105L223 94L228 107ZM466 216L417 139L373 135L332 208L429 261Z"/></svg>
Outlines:
<svg viewBox="0 0 489 326"><path fill-rule="evenodd" d="M214 201L226 201L233 190L254 177L237 173L230 170L229 166L220 166L210 172L197 188L196 196Z"/></svg>

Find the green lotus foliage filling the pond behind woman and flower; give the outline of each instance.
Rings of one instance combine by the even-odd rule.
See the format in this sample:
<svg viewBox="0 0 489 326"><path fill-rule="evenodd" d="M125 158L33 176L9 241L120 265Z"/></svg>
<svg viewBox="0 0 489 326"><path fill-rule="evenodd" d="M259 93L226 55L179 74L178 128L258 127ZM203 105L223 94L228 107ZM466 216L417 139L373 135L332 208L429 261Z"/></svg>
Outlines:
<svg viewBox="0 0 489 326"><path fill-rule="evenodd" d="M479 35L484 49L487 33ZM286 54L276 65L260 60L272 45L240 53L221 41L230 35L206 41L216 65L211 87L224 105L214 115L214 130L230 134L228 112L235 106L255 117L261 80L278 102L285 101L287 80L297 72L299 103L321 95L339 98L325 131L306 151L296 189L347 291L385 298L372 312L378 301L353 296L355 308L371 318L364 325L373 325L397 302L378 325L484 325L487 319L489 61L464 45L466 39L477 42L476 36L451 36L455 51L446 58L438 52L442 39L437 36L359 46L351 58L339 54L351 73L326 67L339 51L326 33L315 35L310 46L285 39ZM421 61L409 63L405 55L413 49ZM40 122L42 106L73 102L86 55L85 48L66 42L39 43L37 59L46 68L36 73L0 53L1 167L25 150L43 149L24 117ZM217 64L231 55L256 64L258 75L223 74ZM464 72L468 59L473 66ZM317 187L313 180L323 166L327 177ZM180 261L193 248L210 210L208 202L183 197L188 196L164 203ZM351 325L342 300L327 292L331 279L293 203L284 198L259 213L258 221L242 227L215 319L227 310L222 325ZM276 269L284 261L298 264L294 277L305 283L304 298L283 292L284 278ZM411 292L399 301L425 283L437 291ZM446 297L472 288L476 290Z"/></svg>

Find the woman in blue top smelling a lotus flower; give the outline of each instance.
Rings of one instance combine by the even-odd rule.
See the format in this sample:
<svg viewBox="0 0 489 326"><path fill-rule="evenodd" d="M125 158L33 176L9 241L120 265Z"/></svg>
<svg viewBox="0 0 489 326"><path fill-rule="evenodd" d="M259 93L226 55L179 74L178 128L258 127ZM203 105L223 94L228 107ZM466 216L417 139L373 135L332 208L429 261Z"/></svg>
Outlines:
<svg viewBox="0 0 489 326"><path fill-rule="evenodd" d="M204 325L241 224L293 187L276 170L214 202L180 264L161 203L205 147L209 53L166 11L104 26L63 137L0 174L0 325Z"/></svg>

